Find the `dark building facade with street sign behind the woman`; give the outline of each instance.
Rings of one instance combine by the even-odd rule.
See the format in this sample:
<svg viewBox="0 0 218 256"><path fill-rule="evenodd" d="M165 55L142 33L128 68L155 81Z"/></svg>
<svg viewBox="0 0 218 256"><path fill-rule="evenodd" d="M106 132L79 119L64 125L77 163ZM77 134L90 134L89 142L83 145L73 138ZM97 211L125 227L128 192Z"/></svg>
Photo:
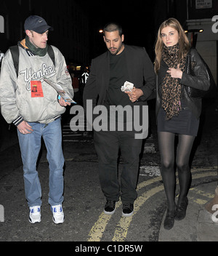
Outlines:
<svg viewBox="0 0 218 256"><path fill-rule="evenodd" d="M217 83L218 67L218 1L187 0L187 31L189 39L196 40L196 49L209 65ZM202 33L196 32L200 29ZM193 32L194 31L194 32ZM194 38L193 38L194 37Z"/></svg>

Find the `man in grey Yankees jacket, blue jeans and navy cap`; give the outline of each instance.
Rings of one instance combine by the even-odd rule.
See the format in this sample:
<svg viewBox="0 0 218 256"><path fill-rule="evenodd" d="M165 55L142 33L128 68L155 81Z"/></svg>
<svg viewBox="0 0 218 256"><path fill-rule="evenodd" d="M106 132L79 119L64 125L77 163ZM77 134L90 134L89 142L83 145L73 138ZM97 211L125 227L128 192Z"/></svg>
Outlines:
<svg viewBox="0 0 218 256"><path fill-rule="evenodd" d="M23 160L25 196L30 207L31 223L41 221L41 185L36 161L41 137L47 147L49 161L49 204L53 221L63 223L63 164L61 114L65 102L53 87L44 81L51 79L73 97L73 87L65 58L52 46L55 64L48 54L48 33L52 27L39 16L25 20L25 39L18 42L19 68L16 74L10 50L4 55L0 77L1 113L7 123L17 126Z"/></svg>

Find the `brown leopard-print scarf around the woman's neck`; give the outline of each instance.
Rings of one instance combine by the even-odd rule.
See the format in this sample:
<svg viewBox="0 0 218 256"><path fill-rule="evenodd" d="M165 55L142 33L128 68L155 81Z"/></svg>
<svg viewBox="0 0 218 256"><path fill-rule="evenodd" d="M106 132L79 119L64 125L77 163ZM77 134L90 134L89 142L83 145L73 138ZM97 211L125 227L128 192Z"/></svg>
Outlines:
<svg viewBox="0 0 218 256"><path fill-rule="evenodd" d="M169 66L169 68L179 68L185 71L185 58L180 63L179 57L179 44L172 47L166 47L164 45L162 52L162 60ZM163 79L161 92L162 92L162 108L166 111L166 120L170 120L174 116L179 115L181 108L181 95L182 86L179 84L178 79L171 77L169 73Z"/></svg>

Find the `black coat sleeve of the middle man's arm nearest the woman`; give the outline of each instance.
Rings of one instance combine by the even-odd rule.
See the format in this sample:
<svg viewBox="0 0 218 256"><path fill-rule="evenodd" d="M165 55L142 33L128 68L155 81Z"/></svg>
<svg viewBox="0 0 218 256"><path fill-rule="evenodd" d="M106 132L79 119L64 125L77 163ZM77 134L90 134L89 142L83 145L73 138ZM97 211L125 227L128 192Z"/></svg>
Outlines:
<svg viewBox="0 0 218 256"><path fill-rule="evenodd" d="M151 62L145 48L143 48L142 58L145 86L140 88L144 93L144 95L140 97L140 100L151 100L156 97L156 76L153 68L153 63Z"/></svg>

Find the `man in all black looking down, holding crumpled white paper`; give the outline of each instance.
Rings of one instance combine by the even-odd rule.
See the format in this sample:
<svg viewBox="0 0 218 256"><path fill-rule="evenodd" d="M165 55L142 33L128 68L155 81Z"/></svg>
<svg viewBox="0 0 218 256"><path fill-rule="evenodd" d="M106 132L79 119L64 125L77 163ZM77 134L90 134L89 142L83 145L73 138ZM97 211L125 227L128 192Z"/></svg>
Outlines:
<svg viewBox="0 0 218 256"><path fill-rule="evenodd" d="M92 114L101 112L94 119L92 128L99 160L100 184L107 200L104 212L112 215L116 201L121 196L123 216L128 217L133 214L134 200L137 199L142 139L148 135L145 129L139 134L137 124L143 123L140 127L145 127L145 121L148 124L148 116L145 120L148 114L147 100L154 95L155 73L145 48L124 44L120 25L105 25L104 41L108 51L92 60L84 89L84 108L86 119L91 122L93 116L90 117L90 101L87 100L92 100ZM119 150L124 160L121 185L117 170Z"/></svg>

